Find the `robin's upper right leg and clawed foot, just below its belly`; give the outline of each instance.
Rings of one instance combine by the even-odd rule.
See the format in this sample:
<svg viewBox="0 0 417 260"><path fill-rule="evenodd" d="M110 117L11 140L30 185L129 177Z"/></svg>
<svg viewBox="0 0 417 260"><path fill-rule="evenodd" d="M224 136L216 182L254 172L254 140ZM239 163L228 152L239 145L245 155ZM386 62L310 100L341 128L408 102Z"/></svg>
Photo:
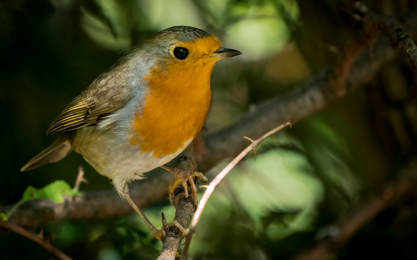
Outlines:
<svg viewBox="0 0 417 260"><path fill-rule="evenodd" d="M196 184L194 183L193 177L200 177L201 179L203 179L203 182L206 182L208 179L206 176L204 176L202 173L199 172L193 172L193 173L189 173L186 172L184 170L178 169L178 168L173 168L171 166L168 165L162 165L161 168L173 173L175 175L175 182L173 185L170 185L168 187L168 190L170 193L173 193L175 188L178 186L179 183L181 183L184 186L184 191L185 191L185 197L188 198L188 184L187 182L190 182L191 188L193 190L193 195L194 195L194 205L197 205L197 187Z"/></svg>

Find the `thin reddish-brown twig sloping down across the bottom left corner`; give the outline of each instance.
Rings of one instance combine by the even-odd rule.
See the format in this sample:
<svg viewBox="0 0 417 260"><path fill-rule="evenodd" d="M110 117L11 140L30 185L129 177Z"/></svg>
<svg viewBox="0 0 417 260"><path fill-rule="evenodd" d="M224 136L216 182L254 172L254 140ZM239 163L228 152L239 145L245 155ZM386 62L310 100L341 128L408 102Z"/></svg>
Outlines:
<svg viewBox="0 0 417 260"><path fill-rule="evenodd" d="M9 221L0 221L0 227L13 231L15 233L18 233L19 235L22 235L25 238L29 238L30 240L38 243L40 246L42 246L43 248L48 250L51 254L55 255L57 258L61 260L73 260L68 255L65 255L62 251L58 250L58 248L55 248L48 240L44 240L39 235L29 232L28 230L25 230L24 228L20 228L14 223L11 223Z"/></svg>

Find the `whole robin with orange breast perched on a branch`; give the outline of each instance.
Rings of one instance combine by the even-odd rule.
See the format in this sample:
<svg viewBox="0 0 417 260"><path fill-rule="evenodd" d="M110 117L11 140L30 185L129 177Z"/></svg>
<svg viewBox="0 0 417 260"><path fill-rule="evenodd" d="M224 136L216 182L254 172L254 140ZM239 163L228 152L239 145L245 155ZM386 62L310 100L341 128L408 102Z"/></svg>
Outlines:
<svg viewBox="0 0 417 260"><path fill-rule="evenodd" d="M242 54L222 47L218 37L189 26L157 32L124 55L74 98L52 122L47 135L64 131L55 143L30 160L21 171L55 163L75 151L111 179L116 191L161 240L156 229L129 197L128 184L162 167L178 183L196 189L193 177L166 163L196 138L211 101L210 77L223 57ZM178 223L171 222L186 234Z"/></svg>

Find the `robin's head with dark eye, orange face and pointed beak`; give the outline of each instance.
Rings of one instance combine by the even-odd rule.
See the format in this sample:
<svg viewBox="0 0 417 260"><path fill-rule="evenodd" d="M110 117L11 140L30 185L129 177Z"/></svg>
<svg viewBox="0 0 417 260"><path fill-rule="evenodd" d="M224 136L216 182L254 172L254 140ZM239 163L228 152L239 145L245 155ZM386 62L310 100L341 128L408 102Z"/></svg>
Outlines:
<svg viewBox="0 0 417 260"><path fill-rule="evenodd" d="M210 78L217 61L242 54L224 48L218 37L198 28L173 26L157 32L126 53L140 61L150 81ZM181 81L183 81L181 80Z"/></svg>

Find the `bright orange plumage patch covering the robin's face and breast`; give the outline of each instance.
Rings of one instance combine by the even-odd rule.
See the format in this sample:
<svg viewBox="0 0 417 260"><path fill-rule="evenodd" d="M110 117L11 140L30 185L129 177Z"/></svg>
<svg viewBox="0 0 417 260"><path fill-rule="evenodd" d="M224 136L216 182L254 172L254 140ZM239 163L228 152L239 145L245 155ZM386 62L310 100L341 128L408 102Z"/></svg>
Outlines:
<svg viewBox="0 0 417 260"><path fill-rule="evenodd" d="M188 57L172 57L151 67L144 77L149 82L145 107L133 120L131 145L153 151L156 158L175 153L203 127L211 101L211 72L219 60L210 55L221 43L207 36L173 46L187 48Z"/></svg>

